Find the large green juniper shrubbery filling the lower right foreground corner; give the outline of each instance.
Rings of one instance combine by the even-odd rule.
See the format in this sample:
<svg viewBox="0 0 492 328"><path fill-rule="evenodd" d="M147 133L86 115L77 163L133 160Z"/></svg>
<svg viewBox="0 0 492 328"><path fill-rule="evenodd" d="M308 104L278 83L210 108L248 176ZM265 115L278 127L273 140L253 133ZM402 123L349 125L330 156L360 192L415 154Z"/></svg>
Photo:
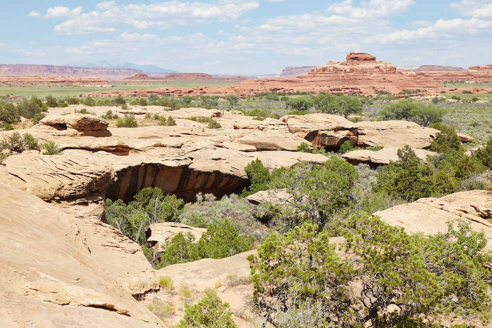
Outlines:
<svg viewBox="0 0 492 328"><path fill-rule="evenodd" d="M346 258L326 230L310 223L265 239L258 256L248 257L251 309L274 327L298 327L306 315L309 326L301 327L439 327L442 317L475 314L487 324L490 269L483 265L490 255L478 255L483 233L449 226L448 234L425 238L367 215L345 225Z"/></svg>

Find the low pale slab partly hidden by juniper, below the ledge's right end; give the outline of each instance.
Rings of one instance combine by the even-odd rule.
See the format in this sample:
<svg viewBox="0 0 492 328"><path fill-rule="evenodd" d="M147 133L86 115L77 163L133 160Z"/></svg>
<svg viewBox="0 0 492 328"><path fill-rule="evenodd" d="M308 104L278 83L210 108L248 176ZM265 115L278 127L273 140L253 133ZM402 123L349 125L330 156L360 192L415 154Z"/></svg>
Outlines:
<svg viewBox="0 0 492 328"><path fill-rule="evenodd" d="M369 164L372 166L388 165L390 161L396 162L400 158L398 157L398 147L385 147L381 150L373 151L369 149L359 149L349 151L341 155L343 159L353 165L360 163ZM435 156L437 153L425 150L425 149L412 149L418 158L427 162L427 156Z"/></svg>

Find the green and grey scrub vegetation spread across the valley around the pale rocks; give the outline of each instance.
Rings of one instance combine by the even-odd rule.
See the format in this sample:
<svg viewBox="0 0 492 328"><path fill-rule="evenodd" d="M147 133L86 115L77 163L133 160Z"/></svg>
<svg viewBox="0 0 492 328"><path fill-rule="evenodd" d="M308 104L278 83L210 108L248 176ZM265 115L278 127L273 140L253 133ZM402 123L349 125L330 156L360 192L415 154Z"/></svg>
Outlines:
<svg viewBox="0 0 492 328"><path fill-rule="evenodd" d="M115 109L158 105L167 111L216 108L240 111L257 120L327 113L352 121L403 119L435 128L440 132L430 149L439 154L427 162L405 146L398 150L398 160L386 167L352 166L340 157L351 149L348 144L338 152L314 150L327 156L324 165L300 163L269 171L255 159L245 167L250 183L241 195L216 199L198 193L194 202L185 203L158 188L144 188L130 202L106 200L106 217L142 246L154 268L257 248L257 256L248 258L254 288L248 307L262 318L264 327L487 326L492 318L491 254L484 252L483 232L474 232L463 222L449 223L447 233L437 236L409 235L371 215L422 197L492 190L490 95L443 93L423 101L412 98L415 92L404 92L408 99L387 92L374 97L268 92L242 98L154 94L131 99L53 92L46 98L17 102L4 98L0 123L4 130L15 129L21 117L36 122L50 107L84 104ZM131 116L117 117L108 111L104 117L118 120L118 126L138 128ZM168 115L148 119L160 125L176 124ZM214 119L204 123L220 128ZM56 145L39 145L27 134L8 133L0 142L1 156L28 149L56 150ZM465 148L457 133L470 135L476 142ZM477 146L482 148L466 153ZM301 146L298 151L311 150ZM282 201L261 205L246 201L248 195L262 190L281 192ZM166 221L207 231L198 239L179 233L155 249L145 233L152 223ZM343 239L335 245L331 237ZM170 283L161 281L163 286ZM173 309L153 311L165 317ZM231 316L228 305L208 293L198 304L186 306L178 327L236 327Z"/></svg>

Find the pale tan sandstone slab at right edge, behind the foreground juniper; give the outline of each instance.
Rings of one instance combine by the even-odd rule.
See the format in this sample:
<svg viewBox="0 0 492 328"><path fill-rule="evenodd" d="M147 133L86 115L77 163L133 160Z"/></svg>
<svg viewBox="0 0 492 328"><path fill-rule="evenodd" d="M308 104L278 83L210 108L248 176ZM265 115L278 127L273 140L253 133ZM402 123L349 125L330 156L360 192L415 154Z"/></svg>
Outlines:
<svg viewBox="0 0 492 328"><path fill-rule="evenodd" d="M461 191L441 198L421 198L413 203L377 211L387 224L403 227L410 234L436 235L447 231L446 222L455 226L467 222L477 232L485 232L486 250L492 250L492 192L488 190Z"/></svg>

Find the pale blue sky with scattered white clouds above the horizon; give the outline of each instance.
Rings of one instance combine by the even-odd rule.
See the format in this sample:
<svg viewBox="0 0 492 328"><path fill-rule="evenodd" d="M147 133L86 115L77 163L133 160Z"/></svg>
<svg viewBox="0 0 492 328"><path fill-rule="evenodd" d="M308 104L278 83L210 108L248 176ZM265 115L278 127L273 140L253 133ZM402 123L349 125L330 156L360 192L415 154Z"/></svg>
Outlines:
<svg viewBox="0 0 492 328"><path fill-rule="evenodd" d="M492 64L492 1L483 0L18 0L2 11L3 64L255 75L352 51L396 66Z"/></svg>

